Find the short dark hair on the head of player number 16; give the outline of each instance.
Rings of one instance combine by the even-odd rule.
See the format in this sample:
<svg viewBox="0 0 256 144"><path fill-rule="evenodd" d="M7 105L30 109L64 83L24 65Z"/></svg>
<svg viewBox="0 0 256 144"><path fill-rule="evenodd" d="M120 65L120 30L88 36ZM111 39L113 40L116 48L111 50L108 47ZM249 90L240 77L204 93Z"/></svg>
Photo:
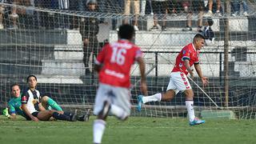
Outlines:
<svg viewBox="0 0 256 144"><path fill-rule="evenodd" d="M131 39L134 36L134 26L124 24L119 27L118 36L119 38Z"/></svg>

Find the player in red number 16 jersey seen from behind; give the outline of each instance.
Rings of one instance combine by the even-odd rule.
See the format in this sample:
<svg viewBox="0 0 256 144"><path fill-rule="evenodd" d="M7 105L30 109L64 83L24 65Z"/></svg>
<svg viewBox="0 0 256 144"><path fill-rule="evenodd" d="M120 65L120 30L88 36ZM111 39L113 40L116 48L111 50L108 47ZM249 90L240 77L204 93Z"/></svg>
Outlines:
<svg viewBox="0 0 256 144"><path fill-rule="evenodd" d="M99 86L94 104L94 114L98 116L94 121L94 143L102 142L108 114L120 120L130 115L130 68L134 62L139 65L142 94L147 94L142 51L130 42L134 38L134 26L120 26L118 38L118 42L104 46L95 61Z"/></svg>

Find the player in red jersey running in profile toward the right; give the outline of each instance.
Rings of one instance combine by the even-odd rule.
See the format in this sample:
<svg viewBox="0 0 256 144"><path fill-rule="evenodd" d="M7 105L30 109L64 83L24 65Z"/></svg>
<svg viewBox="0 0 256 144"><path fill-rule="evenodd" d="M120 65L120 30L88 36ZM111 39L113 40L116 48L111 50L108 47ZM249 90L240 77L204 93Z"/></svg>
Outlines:
<svg viewBox="0 0 256 144"><path fill-rule="evenodd" d="M174 69L171 71L170 82L167 86L166 93L158 93L147 97L138 95L138 111L141 111L143 103L170 101L174 98L175 94L178 94L178 91L183 91L186 95L186 109L190 118L190 126L205 123L204 120L194 116L194 92L186 76L190 73L190 77L194 77L194 70L191 67L194 65L198 76L202 80L203 86L207 86L208 78L202 75L202 70L199 65L199 50L202 49L204 40L205 38L202 34L196 34L193 38L193 42L183 47L176 58Z"/></svg>

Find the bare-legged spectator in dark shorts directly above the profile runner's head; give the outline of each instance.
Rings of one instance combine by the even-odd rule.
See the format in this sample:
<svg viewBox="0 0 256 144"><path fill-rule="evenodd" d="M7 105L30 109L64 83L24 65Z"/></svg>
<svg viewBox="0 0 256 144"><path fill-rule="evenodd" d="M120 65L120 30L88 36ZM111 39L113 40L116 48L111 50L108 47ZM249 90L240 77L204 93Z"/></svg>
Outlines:
<svg viewBox="0 0 256 144"><path fill-rule="evenodd" d="M203 16L203 11L206 9L204 6L204 2L202 1L185 1L182 2L182 6L184 8L184 12L187 13L187 24L182 31L191 31L192 30L192 14L198 13L198 31L202 30L202 16Z"/></svg>

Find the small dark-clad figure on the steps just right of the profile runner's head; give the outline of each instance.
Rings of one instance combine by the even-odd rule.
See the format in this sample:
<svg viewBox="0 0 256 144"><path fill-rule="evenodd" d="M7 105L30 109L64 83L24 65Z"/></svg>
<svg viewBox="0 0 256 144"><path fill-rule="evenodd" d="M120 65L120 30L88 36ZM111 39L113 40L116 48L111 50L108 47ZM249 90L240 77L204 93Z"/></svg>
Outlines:
<svg viewBox="0 0 256 144"><path fill-rule="evenodd" d="M202 31L206 45L214 44L214 31L211 29L211 26L213 26L214 21L212 18L205 18L204 19L204 30ZM199 31L201 32L201 31Z"/></svg>

